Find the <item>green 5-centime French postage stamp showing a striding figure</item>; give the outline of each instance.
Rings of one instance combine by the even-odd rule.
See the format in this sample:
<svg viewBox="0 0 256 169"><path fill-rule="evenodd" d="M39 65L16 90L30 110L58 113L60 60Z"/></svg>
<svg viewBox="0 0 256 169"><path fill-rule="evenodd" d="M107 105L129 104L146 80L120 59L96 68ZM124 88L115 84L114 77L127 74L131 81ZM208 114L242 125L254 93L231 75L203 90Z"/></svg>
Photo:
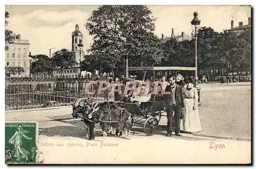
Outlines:
<svg viewBox="0 0 256 169"><path fill-rule="evenodd" d="M5 123L5 163L36 164L37 122Z"/></svg>

